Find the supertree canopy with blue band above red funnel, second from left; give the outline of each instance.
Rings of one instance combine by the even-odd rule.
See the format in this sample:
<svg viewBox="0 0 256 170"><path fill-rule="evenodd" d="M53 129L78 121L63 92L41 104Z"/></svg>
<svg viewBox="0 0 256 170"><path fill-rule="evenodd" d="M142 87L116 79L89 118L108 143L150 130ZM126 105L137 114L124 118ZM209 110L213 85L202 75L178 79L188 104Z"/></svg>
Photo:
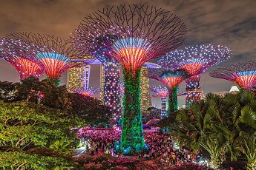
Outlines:
<svg viewBox="0 0 256 170"><path fill-rule="evenodd" d="M80 66L80 63L70 61L70 57L79 56L79 52L69 40L39 33L11 33L4 38L27 44L26 47L16 44L16 51L22 57L42 65L47 78L52 79L56 84L59 84L62 72ZM30 55L27 55L28 52Z"/></svg>

